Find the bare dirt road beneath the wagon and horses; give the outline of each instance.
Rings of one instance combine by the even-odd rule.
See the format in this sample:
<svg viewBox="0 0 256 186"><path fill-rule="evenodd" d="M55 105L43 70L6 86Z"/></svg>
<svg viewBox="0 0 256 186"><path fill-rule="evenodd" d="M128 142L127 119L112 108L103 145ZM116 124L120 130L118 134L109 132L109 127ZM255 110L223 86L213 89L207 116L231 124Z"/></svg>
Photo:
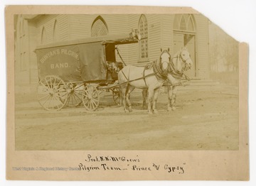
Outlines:
<svg viewBox="0 0 256 186"><path fill-rule="evenodd" d="M163 92L153 115L139 93L132 113L107 94L94 112L45 111L35 96L17 96L16 150L238 150L238 87L178 91L176 111L166 110Z"/></svg>

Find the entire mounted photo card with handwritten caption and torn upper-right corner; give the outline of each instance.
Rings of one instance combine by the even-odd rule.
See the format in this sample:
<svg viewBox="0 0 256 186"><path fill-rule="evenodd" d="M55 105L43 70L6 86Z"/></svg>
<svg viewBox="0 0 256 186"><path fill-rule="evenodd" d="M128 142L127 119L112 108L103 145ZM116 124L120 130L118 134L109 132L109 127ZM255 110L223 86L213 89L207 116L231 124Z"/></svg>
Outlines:
<svg viewBox="0 0 256 186"><path fill-rule="evenodd" d="M7 180L249 180L247 43L190 7L5 11Z"/></svg>

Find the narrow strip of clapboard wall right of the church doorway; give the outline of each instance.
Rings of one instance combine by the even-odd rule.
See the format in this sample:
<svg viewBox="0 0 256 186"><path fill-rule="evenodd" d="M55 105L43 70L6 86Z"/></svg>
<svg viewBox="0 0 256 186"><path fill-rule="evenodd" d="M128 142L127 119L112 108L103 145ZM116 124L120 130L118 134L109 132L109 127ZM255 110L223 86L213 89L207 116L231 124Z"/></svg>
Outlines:
<svg viewBox="0 0 256 186"><path fill-rule="evenodd" d="M195 14L194 17L196 20L196 59L198 77L201 79L208 79L208 18L201 14Z"/></svg>

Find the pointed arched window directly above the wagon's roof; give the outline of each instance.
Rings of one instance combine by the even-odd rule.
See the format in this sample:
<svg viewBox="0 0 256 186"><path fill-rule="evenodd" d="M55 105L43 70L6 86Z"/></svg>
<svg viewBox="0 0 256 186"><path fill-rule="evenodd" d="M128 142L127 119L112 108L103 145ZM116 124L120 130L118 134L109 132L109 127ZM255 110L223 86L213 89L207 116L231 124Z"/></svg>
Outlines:
<svg viewBox="0 0 256 186"><path fill-rule="evenodd" d="M101 16L98 16L97 18L95 18L95 21L93 21L92 23L92 28L91 28L92 37L107 35L107 33L108 33L107 23L105 23L104 19Z"/></svg>

